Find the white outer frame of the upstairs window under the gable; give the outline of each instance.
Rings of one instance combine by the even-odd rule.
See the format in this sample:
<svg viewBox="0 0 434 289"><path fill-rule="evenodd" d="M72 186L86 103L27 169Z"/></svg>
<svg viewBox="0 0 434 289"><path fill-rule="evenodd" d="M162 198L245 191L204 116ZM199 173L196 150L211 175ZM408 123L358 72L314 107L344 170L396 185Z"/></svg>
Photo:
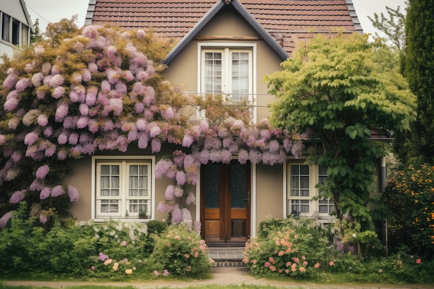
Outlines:
<svg viewBox="0 0 434 289"><path fill-rule="evenodd" d="M222 59L222 95L232 95L232 65L231 53L234 52L248 52L249 53L249 96L248 100L254 105L253 108L253 121L256 122L256 98L253 96L257 93L257 44L256 43L198 43L198 91L205 94L205 52L221 52L223 53ZM232 97L232 96L231 96ZM234 100L236 101L236 100ZM199 114L203 117L202 112Z"/></svg>

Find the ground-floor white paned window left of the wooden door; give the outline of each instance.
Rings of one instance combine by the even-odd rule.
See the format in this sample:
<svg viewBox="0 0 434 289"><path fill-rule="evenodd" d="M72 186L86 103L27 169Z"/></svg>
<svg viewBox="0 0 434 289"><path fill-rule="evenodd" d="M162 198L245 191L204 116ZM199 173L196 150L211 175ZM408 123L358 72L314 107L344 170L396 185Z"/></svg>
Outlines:
<svg viewBox="0 0 434 289"><path fill-rule="evenodd" d="M94 167L96 218L152 216L152 161L101 158Z"/></svg>

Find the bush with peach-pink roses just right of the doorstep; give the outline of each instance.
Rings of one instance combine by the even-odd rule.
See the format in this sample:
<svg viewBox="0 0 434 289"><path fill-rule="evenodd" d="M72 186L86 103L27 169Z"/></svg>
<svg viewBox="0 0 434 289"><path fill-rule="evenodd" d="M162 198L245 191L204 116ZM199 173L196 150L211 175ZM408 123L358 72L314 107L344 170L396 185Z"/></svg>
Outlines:
<svg viewBox="0 0 434 289"><path fill-rule="evenodd" d="M312 219L270 219L259 224L257 238L245 247L247 270L251 274L311 276L324 263L329 238Z"/></svg>

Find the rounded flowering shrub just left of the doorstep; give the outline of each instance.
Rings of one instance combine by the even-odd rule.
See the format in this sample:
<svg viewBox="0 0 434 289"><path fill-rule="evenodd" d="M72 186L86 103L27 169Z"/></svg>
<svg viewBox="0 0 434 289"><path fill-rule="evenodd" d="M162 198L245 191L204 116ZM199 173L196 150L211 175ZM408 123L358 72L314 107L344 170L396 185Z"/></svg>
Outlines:
<svg viewBox="0 0 434 289"><path fill-rule="evenodd" d="M160 236L155 236L155 249L150 255L155 275L173 274L197 277L209 273L213 261L205 240L184 225L171 225Z"/></svg>

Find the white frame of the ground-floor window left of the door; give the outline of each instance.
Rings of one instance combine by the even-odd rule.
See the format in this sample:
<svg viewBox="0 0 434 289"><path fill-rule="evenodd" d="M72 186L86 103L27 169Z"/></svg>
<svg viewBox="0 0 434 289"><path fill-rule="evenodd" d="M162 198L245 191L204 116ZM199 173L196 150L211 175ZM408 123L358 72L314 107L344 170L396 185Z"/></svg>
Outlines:
<svg viewBox="0 0 434 289"><path fill-rule="evenodd" d="M114 164L120 166L119 171L119 196L103 197L98 194L100 190L100 172L101 165ZM130 165L147 165L148 166L148 195L143 197L129 197L129 168ZM110 213L101 211L102 200L117 200L119 202L119 211ZM92 219L106 220L111 219L134 219L139 218L139 211L130 211L130 200L136 201L148 206L148 218L155 218L155 157L154 156L93 156L92 157ZM134 209L136 209L135 207Z"/></svg>

